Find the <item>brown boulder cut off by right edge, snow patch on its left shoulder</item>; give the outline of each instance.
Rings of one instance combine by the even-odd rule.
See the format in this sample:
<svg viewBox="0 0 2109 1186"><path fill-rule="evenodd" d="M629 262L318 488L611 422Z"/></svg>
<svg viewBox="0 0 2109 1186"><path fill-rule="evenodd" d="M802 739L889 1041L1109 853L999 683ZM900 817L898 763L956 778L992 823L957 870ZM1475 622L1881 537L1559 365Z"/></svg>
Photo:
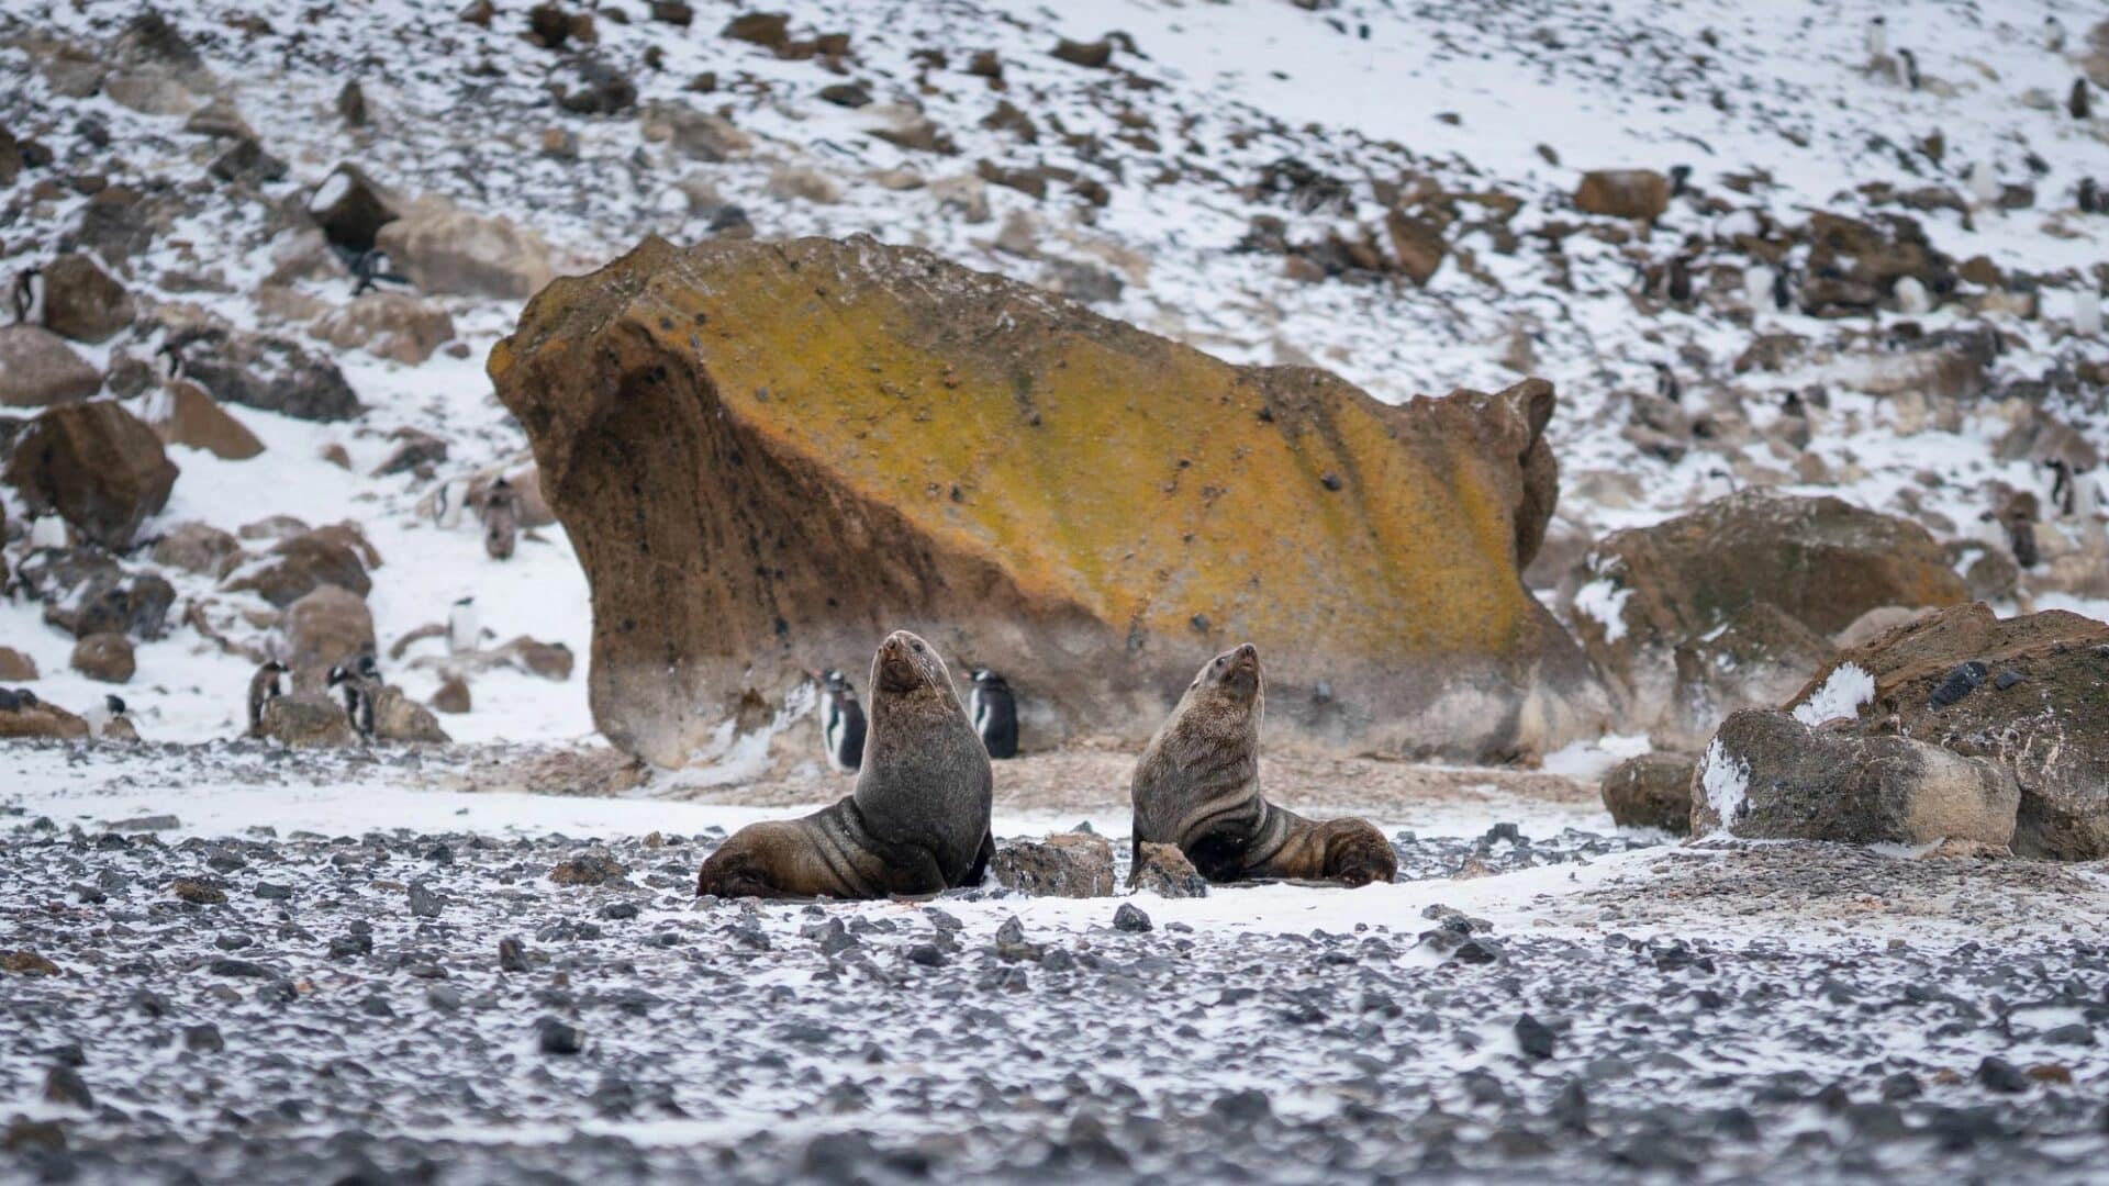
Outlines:
<svg viewBox="0 0 2109 1186"><path fill-rule="evenodd" d="M2020 785L2016 853L2109 857L2109 625L1953 606L1841 654L1791 707L1856 737L1993 760Z"/></svg>

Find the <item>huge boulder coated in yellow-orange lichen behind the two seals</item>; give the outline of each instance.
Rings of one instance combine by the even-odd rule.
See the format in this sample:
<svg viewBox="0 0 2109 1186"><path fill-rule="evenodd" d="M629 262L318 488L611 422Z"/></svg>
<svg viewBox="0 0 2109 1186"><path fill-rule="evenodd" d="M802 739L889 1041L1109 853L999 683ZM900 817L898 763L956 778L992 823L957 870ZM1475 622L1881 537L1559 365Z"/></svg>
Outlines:
<svg viewBox="0 0 2109 1186"><path fill-rule="evenodd" d="M593 585L595 720L658 764L894 627L1029 671L1048 739L1145 739L1244 639L1282 739L1601 726L1518 578L1556 496L1537 380L1388 407L863 236L645 241L546 287L489 374Z"/></svg>

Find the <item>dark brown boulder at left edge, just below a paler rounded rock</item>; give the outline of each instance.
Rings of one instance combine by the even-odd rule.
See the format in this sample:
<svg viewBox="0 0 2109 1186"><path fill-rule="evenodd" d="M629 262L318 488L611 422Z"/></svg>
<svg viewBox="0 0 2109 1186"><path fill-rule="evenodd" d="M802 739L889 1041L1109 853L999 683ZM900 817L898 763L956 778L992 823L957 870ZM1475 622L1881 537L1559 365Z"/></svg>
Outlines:
<svg viewBox="0 0 2109 1186"><path fill-rule="evenodd" d="M6 462L6 483L32 513L55 511L84 538L118 551L169 504L177 473L154 431L108 401L44 409Z"/></svg>

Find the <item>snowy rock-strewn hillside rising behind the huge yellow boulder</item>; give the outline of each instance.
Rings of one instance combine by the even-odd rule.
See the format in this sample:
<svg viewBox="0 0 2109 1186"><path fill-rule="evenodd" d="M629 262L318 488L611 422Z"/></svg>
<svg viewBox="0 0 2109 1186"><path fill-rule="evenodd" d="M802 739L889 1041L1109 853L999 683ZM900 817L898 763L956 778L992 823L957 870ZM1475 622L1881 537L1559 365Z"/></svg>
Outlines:
<svg viewBox="0 0 2109 1186"><path fill-rule="evenodd" d="M466 8L487 8L487 23L458 8L171 6L167 19L219 95L289 165L285 179L247 192L207 175L221 144L186 133L181 114L57 93L53 44L108 46L137 4L8 4L0 120L55 160L6 192L0 270L51 255L72 232L91 188L72 179L173 184L183 213L120 272L154 308L137 333L82 350L108 363L148 359L160 325L200 317L306 340L304 319L274 317L283 302L264 308L257 293L306 198L342 160L405 194L445 194L534 228L557 245L563 270L591 268L643 234L702 238L742 224L759 236L869 232L1067 289L1234 361L1312 361L1381 399L1552 378L1565 483L1550 551L1569 559L1605 530L1753 483L1837 492L1913 515L1936 536L2001 547L1978 519L1993 483L2048 490L2042 466L1995 458L2016 416L2039 407L2096 449L2109 445L2109 346L2071 325L2073 300L2109 268L2109 215L2073 209L2084 177L2109 179L2109 103L2088 118L2067 110L2088 68L2088 25L2101 19L2086 4L785 0L787 53L721 36L742 8L719 2L696 2L683 25L654 19L669 4L607 0L591 11L593 44L572 38L557 51L525 36L525 4ZM1888 19L1888 68L1866 44L1875 15ZM827 34L846 36L846 49ZM1050 53L1063 38L1107 34L1107 68ZM1902 49L1917 59L1915 89L1896 65ZM635 103L618 99L616 114L559 106L553 93L578 91L582 61L618 72ZM365 95L363 127L337 114L346 82ZM829 91L844 84L871 103L831 101L852 99ZM730 148L698 152L671 135L669 106L728 120ZM108 129L105 144L93 125ZM1928 137L1940 139L1938 154ZM1573 209L1584 171L1628 167L1689 167L1689 192L1651 228ZM2031 186L2033 203L1982 203L1976 169L1999 186ZM36 190L57 177L65 181ZM1894 205L1892 194L1926 188L1953 200ZM1426 285L1390 262L1392 211L1443 211L1445 257ZM1936 249L1957 262L1985 255L1999 281L1966 285L1930 312L1847 321L1744 300L1753 255L1738 243L1782 245L1786 264L1801 266L1795 251L1805 247L1788 247L1780 228L1812 211L1909 213ZM1265 249L1255 217L1280 219L1293 249ZM1301 249L1329 234L1375 243L1379 266L1312 264L1333 255ZM1672 255L1700 276L1694 300L1643 291L1643 276ZM1755 281L1763 298L1763 276ZM325 308L352 289L333 274L291 287ZM2010 293L2039 298L2039 314L1985 310ZM437 481L525 447L481 374L517 304L428 300L453 317L466 357L443 350L407 367L308 342L340 361L367 414L318 426L232 409L268 452L219 462L175 449L183 475L152 530L350 517L384 557L371 595L384 650L475 593L498 637L527 633L584 656L586 591L561 530L500 566L483 557L472 521L439 530L418 513ZM1942 409L1913 393L1856 390L1854 376L1881 371L1900 346L1972 325L1991 325L2006 344L1978 397ZM1759 333L1807 346L1778 369L1738 374ZM1721 426L1675 460L1628 433L1658 363L1679 376L1685 409ZM1797 452L1780 443L1780 401L1814 384L1829 407L1810 409L1812 441ZM399 428L449 441L432 481L361 477ZM318 460L331 443L348 449L350 471ZM0 498L19 523L19 498ZM2098 547L2101 519L2082 513L2046 536L2050 549ZM11 542L11 555L23 547ZM1559 572L1533 576L1550 587ZM243 606L196 578L177 585L183 597ZM2105 610L2088 599L2105 589L2023 593ZM49 699L99 694L65 669L72 642L38 614L0 606L6 646L38 661ZM413 654L437 652L426 646ZM141 648L139 665L127 696L141 732L236 728L247 661L179 627ZM392 677L418 696L437 686L428 669ZM563 684L491 673L475 694L472 713L445 722L458 739L593 728L582 669Z"/></svg>

